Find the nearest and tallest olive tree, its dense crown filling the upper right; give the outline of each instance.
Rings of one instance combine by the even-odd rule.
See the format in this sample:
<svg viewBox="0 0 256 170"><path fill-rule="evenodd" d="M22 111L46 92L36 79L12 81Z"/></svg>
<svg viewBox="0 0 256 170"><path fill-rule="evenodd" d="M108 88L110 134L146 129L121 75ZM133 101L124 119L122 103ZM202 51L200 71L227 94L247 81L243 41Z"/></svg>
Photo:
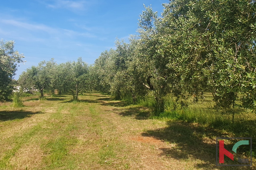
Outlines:
<svg viewBox="0 0 256 170"><path fill-rule="evenodd" d="M252 103L255 8L252 0L174 0L148 38L148 56L161 77L190 94L210 90L218 106L238 94ZM174 83L171 83L174 81Z"/></svg>

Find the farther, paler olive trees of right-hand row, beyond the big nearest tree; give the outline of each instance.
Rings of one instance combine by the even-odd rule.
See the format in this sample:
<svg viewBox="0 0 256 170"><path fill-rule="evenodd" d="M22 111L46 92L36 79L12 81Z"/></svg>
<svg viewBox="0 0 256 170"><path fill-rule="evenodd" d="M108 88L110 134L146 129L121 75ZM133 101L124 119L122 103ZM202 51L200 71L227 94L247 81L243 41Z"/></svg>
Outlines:
<svg viewBox="0 0 256 170"><path fill-rule="evenodd" d="M130 37L130 43L117 40L116 50L104 51L96 59L90 70L96 90L112 94L118 100L136 102L147 94L150 86L153 88L147 68L150 64L135 57L138 40L135 36Z"/></svg>

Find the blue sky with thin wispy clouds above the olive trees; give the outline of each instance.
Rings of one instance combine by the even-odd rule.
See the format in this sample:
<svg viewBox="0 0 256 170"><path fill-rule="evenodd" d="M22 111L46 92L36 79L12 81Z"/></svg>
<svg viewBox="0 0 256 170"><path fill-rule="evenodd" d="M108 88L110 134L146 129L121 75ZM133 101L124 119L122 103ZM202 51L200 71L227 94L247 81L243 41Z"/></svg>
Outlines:
<svg viewBox="0 0 256 170"><path fill-rule="evenodd" d="M93 64L101 52L115 48L116 37L136 34L143 4L158 15L168 0L5 0L1 2L0 39L14 40L23 53L15 79L26 68L54 58Z"/></svg>

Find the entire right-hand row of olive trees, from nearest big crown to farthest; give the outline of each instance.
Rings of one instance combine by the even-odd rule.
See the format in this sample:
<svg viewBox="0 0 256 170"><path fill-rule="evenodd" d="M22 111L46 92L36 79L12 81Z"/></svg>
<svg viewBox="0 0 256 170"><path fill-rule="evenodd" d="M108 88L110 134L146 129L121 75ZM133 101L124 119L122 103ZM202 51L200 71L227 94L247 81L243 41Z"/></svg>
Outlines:
<svg viewBox="0 0 256 170"><path fill-rule="evenodd" d="M138 37L116 41L91 68L97 90L134 102L211 92L217 106L256 106L256 2L172 0L162 17L145 7Z"/></svg>

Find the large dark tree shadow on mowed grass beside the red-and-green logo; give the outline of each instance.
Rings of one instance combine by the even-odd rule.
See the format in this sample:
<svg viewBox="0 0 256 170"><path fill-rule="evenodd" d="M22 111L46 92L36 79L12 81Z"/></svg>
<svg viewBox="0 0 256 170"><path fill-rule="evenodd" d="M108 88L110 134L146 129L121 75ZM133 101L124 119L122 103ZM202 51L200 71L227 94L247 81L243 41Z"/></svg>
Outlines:
<svg viewBox="0 0 256 170"><path fill-rule="evenodd" d="M177 160L195 158L202 160L203 162L196 164L195 168L209 170L214 168L241 169L241 167L216 166L216 137L221 137L222 135L222 133L214 129L206 129L198 124L184 123L181 121L168 121L168 127L148 130L142 133L142 136L150 136L175 144L174 147L159 148L162 151L161 156L165 158L174 158ZM225 145L225 148L229 147Z"/></svg>

